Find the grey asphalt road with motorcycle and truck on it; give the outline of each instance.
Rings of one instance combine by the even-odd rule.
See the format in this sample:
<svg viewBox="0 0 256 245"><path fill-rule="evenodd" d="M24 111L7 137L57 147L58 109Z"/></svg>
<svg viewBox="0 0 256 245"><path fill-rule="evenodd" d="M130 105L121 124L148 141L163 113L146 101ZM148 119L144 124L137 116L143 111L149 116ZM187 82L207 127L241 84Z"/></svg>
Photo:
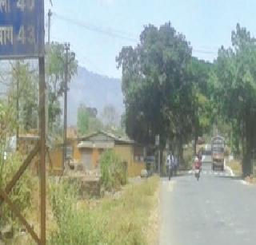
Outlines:
<svg viewBox="0 0 256 245"><path fill-rule="evenodd" d="M203 164L200 180L192 173L162 178L159 244L256 244L256 187L230 172Z"/></svg>

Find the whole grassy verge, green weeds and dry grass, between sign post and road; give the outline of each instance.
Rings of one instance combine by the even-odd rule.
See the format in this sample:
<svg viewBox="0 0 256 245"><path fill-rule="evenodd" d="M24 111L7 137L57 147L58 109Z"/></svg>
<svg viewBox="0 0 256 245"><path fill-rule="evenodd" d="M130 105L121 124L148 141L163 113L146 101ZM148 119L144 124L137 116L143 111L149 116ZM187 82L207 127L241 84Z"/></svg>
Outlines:
<svg viewBox="0 0 256 245"><path fill-rule="evenodd" d="M152 211L158 206L158 176L141 183L127 184L118 195L100 200L78 200L74 186L63 184L65 190L53 193L58 207L58 229L50 235L49 244L149 244L149 221L158 222ZM59 195L59 193L61 193ZM63 199L62 193L66 196ZM61 213L59 213L61 211ZM157 225L155 231L157 232ZM154 238L158 237L156 233ZM152 238L153 239L153 238ZM151 243L154 244L154 243Z"/></svg>

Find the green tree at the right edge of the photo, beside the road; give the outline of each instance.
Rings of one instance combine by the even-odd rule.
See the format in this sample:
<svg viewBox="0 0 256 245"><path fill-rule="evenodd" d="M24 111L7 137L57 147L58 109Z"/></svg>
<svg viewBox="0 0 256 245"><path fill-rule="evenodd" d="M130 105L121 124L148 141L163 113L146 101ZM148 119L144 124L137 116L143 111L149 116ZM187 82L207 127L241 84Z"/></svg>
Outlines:
<svg viewBox="0 0 256 245"><path fill-rule="evenodd" d="M256 39L238 24L231 40L232 47L218 51L215 93L222 117L242 142L242 172L248 176L256 146Z"/></svg>

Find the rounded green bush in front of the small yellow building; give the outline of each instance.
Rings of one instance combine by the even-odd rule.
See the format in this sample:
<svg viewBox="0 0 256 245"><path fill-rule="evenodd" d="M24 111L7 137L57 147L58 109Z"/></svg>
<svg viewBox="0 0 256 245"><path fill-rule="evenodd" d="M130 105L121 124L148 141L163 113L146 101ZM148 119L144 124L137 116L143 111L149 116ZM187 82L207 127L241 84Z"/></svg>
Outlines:
<svg viewBox="0 0 256 245"><path fill-rule="evenodd" d="M102 153L100 159L101 184L108 191L127 183L126 164L112 151Z"/></svg>

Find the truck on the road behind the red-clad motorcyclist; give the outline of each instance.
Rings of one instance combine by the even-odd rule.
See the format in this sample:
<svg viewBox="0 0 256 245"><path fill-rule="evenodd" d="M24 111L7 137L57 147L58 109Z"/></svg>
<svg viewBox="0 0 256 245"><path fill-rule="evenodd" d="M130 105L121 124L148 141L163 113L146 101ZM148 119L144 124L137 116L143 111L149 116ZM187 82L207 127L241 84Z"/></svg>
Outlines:
<svg viewBox="0 0 256 245"><path fill-rule="evenodd" d="M222 136L214 136L211 139L212 169L224 170L225 139Z"/></svg>

